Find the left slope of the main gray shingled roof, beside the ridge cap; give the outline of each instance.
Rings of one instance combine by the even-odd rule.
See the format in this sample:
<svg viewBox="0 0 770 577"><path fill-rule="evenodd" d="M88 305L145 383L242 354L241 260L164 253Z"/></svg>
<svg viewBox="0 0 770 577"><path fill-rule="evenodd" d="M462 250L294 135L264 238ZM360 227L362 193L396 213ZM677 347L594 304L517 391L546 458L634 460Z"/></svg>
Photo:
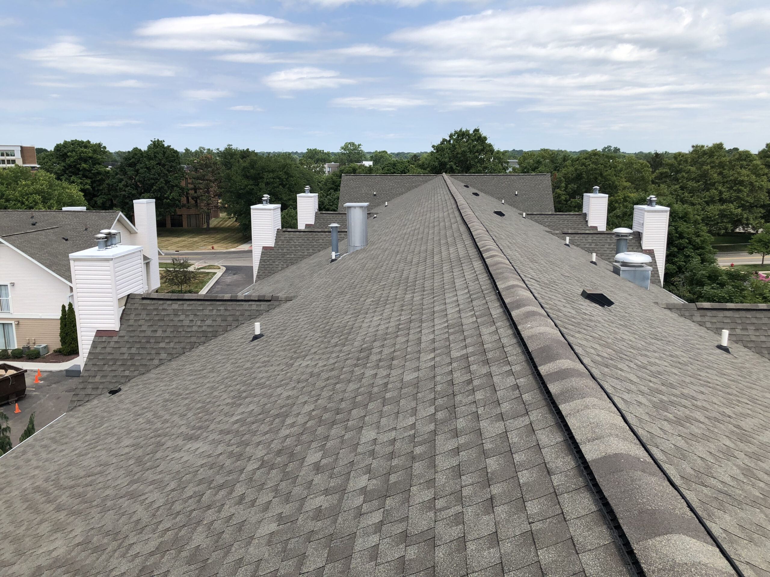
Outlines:
<svg viewBox="0 0 770 577"><path fill-rule="evenodd" d="M627 574L443 181L394 205L4 455L4 575Z"/></svg>

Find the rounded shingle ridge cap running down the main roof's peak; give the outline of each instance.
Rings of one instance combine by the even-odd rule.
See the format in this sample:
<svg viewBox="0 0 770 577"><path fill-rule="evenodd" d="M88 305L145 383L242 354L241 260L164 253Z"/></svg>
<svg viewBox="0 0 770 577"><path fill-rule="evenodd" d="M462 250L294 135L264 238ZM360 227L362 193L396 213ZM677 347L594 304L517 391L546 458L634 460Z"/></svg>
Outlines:
<svg viewBox="0 0 770 577"><path fill-rule="evenodd" d="M448 177L500 295L649 577L735 575Z"/></svg>

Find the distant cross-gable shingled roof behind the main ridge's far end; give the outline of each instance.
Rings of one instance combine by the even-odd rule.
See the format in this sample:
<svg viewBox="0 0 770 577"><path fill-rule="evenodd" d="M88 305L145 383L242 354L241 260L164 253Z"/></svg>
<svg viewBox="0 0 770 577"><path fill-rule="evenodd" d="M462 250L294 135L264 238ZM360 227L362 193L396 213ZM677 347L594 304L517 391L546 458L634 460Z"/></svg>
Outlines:
<svg viewBox="0 0 770 577"><path fill-rule="evenodd" d="M452 177L524 212L554 212L551 175L509 173ZM344 210L346 202L370 202L370 208L379 207L434 178L435 175L343 175L339 209Z"/></svg>

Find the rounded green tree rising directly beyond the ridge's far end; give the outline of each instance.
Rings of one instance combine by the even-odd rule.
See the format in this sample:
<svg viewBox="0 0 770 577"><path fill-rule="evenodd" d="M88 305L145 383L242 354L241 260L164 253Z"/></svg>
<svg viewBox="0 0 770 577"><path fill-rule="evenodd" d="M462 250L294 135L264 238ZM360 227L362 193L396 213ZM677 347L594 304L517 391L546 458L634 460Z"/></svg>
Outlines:
<svg viewBox="0 0 770 577"><path fill-rule="evenodd" d="M420 158L421 168L433 174L507 172L507 155L478 128L460 128L433 145L433 152Z"/></svg>

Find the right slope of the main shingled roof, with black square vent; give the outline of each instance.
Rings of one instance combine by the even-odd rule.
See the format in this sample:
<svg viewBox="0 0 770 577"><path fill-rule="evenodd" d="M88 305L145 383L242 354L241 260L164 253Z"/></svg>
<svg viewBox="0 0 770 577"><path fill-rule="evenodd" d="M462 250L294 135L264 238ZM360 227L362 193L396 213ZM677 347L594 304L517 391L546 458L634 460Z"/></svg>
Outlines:
<svg viewBox="0 0 770 577"><path fill-rule="evenodd" d="M716 349L713 332L658 305L674 302L662 288L645 291L611 274L608 263L589 265L581 248L543 235L528 218L501 218L494 214L493 199L460 190L581 362L744 574L767 575L770 362L741 345L731 347L731 354ZM582 288L600 290L615 304L602 309L581 298ZM640 487L651 495L651 486ZM672 535L681 523L660 512L644 523L653 518L672 528ZM685 533L678 540L685 549L697 549L705 543L701 537ZM669 569L671 575L683 570Z"/></svg>

